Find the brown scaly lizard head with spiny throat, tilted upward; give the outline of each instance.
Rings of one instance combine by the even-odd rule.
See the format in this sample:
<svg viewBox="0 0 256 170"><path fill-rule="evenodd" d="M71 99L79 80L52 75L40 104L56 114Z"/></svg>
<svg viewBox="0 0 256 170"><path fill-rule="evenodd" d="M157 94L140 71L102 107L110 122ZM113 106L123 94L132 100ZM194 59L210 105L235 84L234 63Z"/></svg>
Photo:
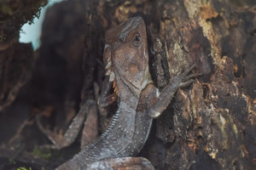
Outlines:
<svg viewBox="0 0 256 170"><path fill-rule="evenodd" d="M139 96L151 81L148 71L148 43L144 20L141 17L126 20L106 32L104 63L109 81L118 93L121 84ZM124 82L124 83L121 83Z"/></svg>

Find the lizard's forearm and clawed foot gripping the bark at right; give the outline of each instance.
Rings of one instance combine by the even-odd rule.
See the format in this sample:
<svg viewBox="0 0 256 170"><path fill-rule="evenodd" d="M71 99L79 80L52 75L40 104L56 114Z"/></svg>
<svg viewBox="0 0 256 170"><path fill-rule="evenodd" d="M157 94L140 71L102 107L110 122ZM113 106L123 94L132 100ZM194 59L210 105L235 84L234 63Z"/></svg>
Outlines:
<svg viewBox="0 0 256 170"><path fill-rule="evenodd" d="M166 110L166 107L171 103L174 94L177 92L178 88L187 87L192 82L195 82L194 77L201 76L201 73L190 74L196 65L192 65L188 70L184 71L182 74L177 75L173 78L172 82L166 85L162 90L158 99L155 101L154 105L149 108L149 116L156 118Z"/></svg>

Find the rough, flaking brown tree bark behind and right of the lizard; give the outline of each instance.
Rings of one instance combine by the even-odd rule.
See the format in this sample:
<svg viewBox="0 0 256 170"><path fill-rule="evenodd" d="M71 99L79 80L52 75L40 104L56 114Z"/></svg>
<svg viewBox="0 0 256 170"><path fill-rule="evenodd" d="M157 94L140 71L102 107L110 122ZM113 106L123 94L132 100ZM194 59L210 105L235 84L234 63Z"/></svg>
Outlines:
<svg viewBox="0 0 256 170"><path fill-rule="evenodd" d="M148 26L149 67L157 87L194 63L203 73L177 92L141 156L157 169L189 168L194 161L191 169L253 169L256 3L88 1L87 8L91 25L85 35L94 37L85 42L94 40L93 48L100 48L95 56L102 56L102 32L140 15Z"/></svg>

